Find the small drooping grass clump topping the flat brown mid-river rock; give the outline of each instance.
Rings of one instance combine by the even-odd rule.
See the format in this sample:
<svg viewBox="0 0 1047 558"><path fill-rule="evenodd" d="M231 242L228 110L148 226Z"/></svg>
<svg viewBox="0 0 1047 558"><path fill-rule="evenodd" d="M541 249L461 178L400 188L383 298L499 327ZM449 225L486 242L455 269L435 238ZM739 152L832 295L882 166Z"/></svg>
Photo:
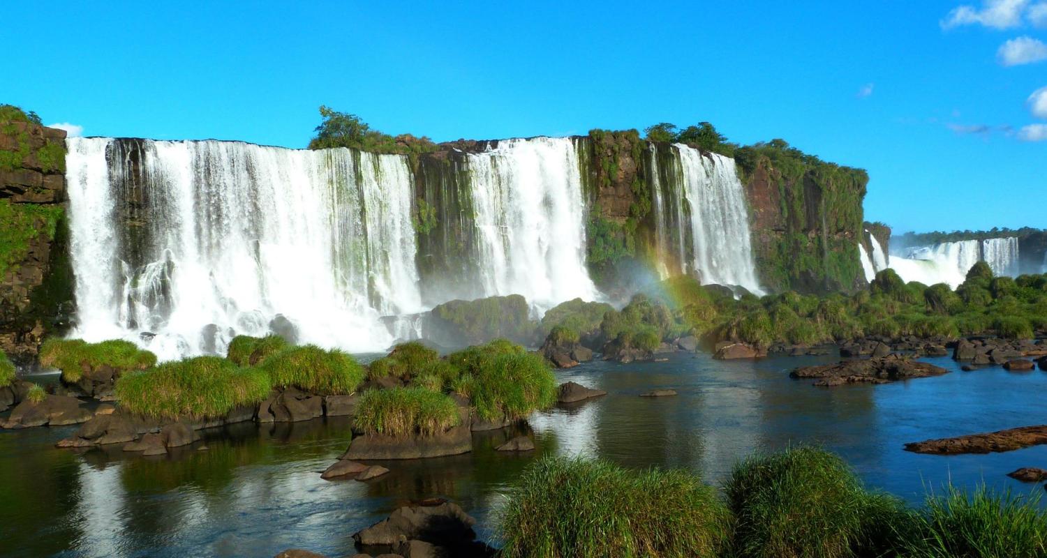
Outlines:
<svg viewBox="0 0 1047 558"><path fill-rule="evenodd" d="M401 437L438 434L462 418L449 396L425 387L392 387L364 392L354 420L366 433Z"/></svg>

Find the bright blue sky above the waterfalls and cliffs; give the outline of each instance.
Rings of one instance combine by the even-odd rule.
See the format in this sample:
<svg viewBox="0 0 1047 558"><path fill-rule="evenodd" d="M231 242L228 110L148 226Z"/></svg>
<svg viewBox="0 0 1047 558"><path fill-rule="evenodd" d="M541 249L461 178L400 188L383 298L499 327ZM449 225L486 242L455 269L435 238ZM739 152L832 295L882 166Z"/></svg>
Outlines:
<svg viewBox="0 0 1047 558"><path fill-rule="evenodd" d="M286 147L320 104L438 141L709 120L867 169L898 232L1047 226L1047 0L85 4L4 6L0 102Z"/></svg>

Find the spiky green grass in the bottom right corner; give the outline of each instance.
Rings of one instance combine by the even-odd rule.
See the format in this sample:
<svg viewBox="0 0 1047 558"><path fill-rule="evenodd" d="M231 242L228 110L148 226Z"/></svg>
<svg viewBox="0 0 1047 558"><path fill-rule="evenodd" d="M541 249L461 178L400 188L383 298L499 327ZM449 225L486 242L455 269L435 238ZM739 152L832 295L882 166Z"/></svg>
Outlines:
<svg viewBox="0 0 1047 558"><path fill-rule="evenodd" d="M1047 556L1047 514L1040 492L1029 497L989 493L984 486L971 495L950 487L930 497L916 518L919 536L909 537L906 556L913 558Z"/></svg>

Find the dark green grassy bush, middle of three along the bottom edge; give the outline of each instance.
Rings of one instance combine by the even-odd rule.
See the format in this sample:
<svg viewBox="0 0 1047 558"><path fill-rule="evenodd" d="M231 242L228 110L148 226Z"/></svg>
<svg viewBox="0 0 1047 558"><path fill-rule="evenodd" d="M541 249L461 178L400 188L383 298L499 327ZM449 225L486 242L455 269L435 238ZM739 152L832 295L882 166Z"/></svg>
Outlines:
<svg viewBox="0 0 1047 558"><path fill-rule="evenodd" d="M865 522L882 515L866 512L883 501L827 451L796 447L750 456L734 468L725 493L741 557L850 557L857 548L890 544L870 540Z"/></svg>

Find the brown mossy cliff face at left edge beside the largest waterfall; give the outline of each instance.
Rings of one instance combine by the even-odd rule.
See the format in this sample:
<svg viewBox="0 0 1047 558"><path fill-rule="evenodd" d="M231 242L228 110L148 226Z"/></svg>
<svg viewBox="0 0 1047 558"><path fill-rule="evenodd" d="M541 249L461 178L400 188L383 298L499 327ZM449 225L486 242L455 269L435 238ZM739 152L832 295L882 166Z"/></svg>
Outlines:
<svg viewBox="0 0 1047 558"><path fill-rule="evenodd" d="M72 310L65 218L65 136L0 112L0 349L36 354Z"/></svg>

